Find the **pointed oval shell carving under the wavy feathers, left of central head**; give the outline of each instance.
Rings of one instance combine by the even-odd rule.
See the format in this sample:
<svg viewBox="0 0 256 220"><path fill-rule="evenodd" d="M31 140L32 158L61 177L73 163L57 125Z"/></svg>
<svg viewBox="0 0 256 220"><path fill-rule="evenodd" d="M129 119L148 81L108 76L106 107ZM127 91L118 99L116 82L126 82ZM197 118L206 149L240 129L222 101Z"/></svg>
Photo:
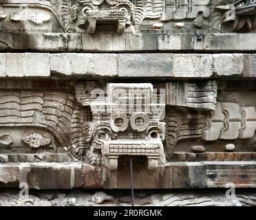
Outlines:
<svg viewBox="0 0 256 220"><path fill-rule="evenodd" d="M32 148L48 146L52 140L43 137L40 133L32 133L26 137L22 137L22 141Z"/></svg>

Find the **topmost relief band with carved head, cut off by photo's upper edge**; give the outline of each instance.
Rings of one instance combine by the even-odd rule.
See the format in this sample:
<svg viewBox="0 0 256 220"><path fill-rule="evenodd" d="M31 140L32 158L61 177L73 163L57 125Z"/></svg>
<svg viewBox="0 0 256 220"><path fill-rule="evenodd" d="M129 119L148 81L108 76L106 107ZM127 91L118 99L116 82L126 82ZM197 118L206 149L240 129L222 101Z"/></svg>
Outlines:
<svg viewBox="0 0 256 220"><path fill-rule="evenodd" d="M6 32L255 32L255 0L5 0Z"/></svg>

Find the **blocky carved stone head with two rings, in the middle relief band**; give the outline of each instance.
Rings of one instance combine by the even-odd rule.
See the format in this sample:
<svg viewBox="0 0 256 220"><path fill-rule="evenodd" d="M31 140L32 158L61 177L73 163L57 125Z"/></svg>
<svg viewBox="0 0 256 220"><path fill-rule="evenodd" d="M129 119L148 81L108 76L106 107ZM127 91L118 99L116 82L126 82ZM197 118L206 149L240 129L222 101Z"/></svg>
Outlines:
<svg viewBox="0 0 256 220"><path fill-rule="evenodd" d="M81 93L83 87L84 92ZM165 163L162 146L164 122L160 122L162 112L156 111L157 103L151 100L151 84L109 83L107 100L103 94L90 103L87 98L81 98L81 94L87 94L87 90L87 83L78 83L76 86L78 101L85 106L89 104L92 109L92 121L87 124L84 138L92 143L91 153L102 154L106 166L111 170L117 168L118 158L122 155L146 156L148 168ZM89 93L93 94L94 91ZM141 106L134 102L141 103Z"/></svg>

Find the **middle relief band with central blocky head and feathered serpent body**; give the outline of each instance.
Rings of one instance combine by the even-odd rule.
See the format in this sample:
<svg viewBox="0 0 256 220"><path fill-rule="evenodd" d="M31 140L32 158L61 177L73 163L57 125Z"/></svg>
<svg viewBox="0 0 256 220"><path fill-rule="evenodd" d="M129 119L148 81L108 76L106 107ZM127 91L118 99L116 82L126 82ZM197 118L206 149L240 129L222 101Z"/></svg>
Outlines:
<svg viewBox="0 0 256 220"><path fill-rule="evenodd" d="M254 158L255 107L217 100L215 80L87 80L72 93L12 85L0 90L0 153L20 153L5 162L79 160L116 170L129 157L149 169L170 161Z"/></svg>

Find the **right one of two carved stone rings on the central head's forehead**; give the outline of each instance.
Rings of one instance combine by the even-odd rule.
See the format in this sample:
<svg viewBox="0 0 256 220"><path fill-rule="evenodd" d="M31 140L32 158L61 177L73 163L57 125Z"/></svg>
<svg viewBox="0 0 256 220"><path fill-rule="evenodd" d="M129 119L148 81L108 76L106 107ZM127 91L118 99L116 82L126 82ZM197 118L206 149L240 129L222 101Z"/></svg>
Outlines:
<svg viewBox="0 0 256 220"><path fill-rule="evenodd" d="M134 131L145 131L149 127L149 116L145 113L134 113L130 118Z"/></svg>

